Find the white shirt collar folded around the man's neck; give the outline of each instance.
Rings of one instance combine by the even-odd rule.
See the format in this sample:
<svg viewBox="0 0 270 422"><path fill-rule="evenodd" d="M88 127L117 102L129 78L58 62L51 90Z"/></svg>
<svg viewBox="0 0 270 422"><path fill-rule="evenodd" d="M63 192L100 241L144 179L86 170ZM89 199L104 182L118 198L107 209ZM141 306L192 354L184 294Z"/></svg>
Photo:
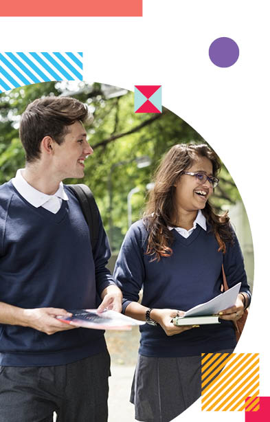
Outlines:
<svg viewBox="0 0 270 422"><path fill-rule="evenodd" d="M17 170L16 176L12 179L12 184L14 188L18 190L19 194L26 199L27 202L31 203L32 206L36 208L41 207L52 197L58 197L60 199L64 199L64 201L68 201L69 198L64 190L62 181L60 182L59 188L54 195L47 195L28 184L22 175L22 170L24 169L19 168L19 170Z"/></svg>

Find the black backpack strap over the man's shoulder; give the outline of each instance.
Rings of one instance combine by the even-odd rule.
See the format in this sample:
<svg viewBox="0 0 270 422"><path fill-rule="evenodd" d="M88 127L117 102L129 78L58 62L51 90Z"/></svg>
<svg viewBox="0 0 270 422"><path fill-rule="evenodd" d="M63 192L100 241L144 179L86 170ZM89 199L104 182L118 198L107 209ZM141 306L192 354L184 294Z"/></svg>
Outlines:
<svg viewBox="0 0 270 422"><path fill-rule="evenodd" d="M94 251L98 242L99 212L95 198L93 197L93 193L88 186L83 184L67 186L72 190L72 192L74 192L78 201L80 202L82 213L84 214L85 220L89 226L92 251Z"/></svg>

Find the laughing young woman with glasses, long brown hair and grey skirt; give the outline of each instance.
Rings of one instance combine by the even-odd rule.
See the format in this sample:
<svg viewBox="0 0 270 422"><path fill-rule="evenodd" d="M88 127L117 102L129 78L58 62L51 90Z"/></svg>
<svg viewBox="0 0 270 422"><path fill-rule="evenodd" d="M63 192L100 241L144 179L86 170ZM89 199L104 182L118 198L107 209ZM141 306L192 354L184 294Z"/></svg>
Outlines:
<svg viewBox="0 0 270 422"><path fill-rule="evenodd" d="M173 146L155 175L144 218L128 230L115 265L123 312L146 321L131 402L135 418L168 422L201 395L201 353L232 353L233 322L249 306L240 246L227 214L209 203L221 168L205 144ZM172 318L241 282L221 324L175 326ZM137 303L143 289L142 304Z"/></svg>

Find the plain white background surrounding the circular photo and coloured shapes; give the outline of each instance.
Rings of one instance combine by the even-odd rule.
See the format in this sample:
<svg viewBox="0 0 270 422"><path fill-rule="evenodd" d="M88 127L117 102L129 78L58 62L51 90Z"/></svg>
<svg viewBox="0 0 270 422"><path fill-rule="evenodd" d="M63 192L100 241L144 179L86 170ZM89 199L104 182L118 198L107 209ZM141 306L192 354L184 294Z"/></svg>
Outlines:
<svg viewBox="0 0 270 422"><path fill-rule="evenodd" d="M242 195L254 240L254 297L236 352L260 353L260 395L270 396L269 14L267 1L144 0L143 18L0 18L5 52L83 52L85 81L134 90L162 85L163 104L216 150ZM216 67L214 39L233 38L235 65ZM245 421L201 412L177 421Z"/></svg>

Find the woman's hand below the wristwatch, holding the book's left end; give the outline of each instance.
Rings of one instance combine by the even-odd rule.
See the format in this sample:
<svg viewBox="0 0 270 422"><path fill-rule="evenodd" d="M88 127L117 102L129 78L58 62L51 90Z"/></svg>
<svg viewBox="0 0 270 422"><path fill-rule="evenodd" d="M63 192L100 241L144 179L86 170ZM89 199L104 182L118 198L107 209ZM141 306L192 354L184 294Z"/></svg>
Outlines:
<svg viewBox="0 0 270 422"><path fill-rule="evenodd" d="M183 311L177 311L177 309L152 309L150 318L158 322L167 335L179 334L193 328L192 325L174 325L172 323L172 318L175 318L177 315L183 315Z"/></svg>

